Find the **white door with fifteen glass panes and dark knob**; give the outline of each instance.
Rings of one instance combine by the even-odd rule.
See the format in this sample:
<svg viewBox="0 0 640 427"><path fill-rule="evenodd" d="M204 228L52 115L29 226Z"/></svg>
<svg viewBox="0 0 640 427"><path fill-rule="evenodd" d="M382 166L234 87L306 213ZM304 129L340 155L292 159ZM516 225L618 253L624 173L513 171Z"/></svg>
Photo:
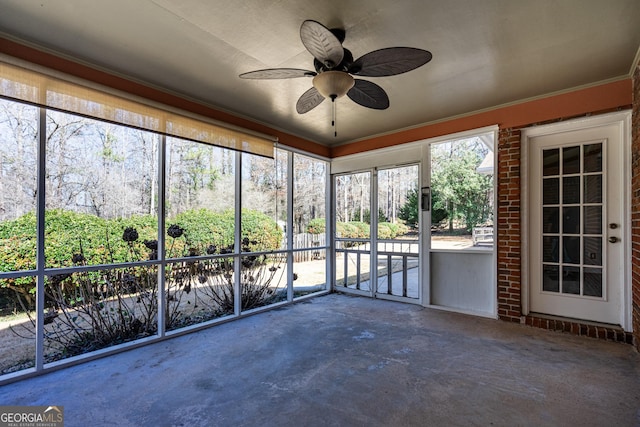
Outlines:
<svg viewBox="0 0 640 427"><path fill-rule="evenodd" d="M623 324L624 134L618 124L529 138L531 312Z"/></svg>

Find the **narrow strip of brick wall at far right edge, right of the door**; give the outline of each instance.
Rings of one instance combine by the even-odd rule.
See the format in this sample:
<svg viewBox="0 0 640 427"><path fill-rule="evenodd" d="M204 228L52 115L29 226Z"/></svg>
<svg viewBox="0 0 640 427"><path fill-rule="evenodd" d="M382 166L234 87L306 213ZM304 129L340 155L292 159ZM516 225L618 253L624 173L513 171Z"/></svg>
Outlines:
<svg viewBox="0 0 640 427"><path fill-rule="evenodd" d="M631 286L633 335L640 350L640 65L633 75L631 116Z"/></svg>

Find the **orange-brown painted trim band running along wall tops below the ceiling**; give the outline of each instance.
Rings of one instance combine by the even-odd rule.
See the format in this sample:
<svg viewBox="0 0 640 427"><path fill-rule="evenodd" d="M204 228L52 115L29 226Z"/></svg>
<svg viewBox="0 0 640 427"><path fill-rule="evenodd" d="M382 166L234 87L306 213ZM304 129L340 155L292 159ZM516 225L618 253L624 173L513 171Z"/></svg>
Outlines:
<svg viewBox="0 0 640 427"><path fill-rule="evenodd" d="M54 54L43 52L1 37L0 53L155 102L210 117L214 120L230 123L256 132L274 135L278 137L280 144L330 158L392 147L407 142L420 141L490 125L497 124L502 129L522 127L557 118L575 117L604 110L610 111L615 108L628 108L631 106L632 98L631 79L623 79L330 148L256 123L249 119L216 110L204 104L184 99L177 95L163 92L141 83L92 68L88 65L61 58Z"/></svg>

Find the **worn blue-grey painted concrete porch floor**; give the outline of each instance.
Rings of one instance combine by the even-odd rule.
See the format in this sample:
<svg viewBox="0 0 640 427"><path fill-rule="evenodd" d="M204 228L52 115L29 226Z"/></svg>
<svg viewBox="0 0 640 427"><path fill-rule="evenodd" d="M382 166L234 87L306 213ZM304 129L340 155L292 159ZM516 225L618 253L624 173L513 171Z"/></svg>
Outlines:
<svg viewBox="0 0 640 427"><path fill-rule="evenodd" d="M629 345L332 294L0 388L65 426L638 426Z"/></svg>

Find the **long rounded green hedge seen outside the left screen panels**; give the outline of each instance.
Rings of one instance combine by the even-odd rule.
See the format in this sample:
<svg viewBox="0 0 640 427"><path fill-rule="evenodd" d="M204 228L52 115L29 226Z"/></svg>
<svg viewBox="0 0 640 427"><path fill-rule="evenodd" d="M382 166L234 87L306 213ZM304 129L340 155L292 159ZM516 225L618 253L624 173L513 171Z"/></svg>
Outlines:
<svg viewBox="0 0 640 427"><path fill-rule="evenodd" d="M243 210L243 251L271 251L280 248L283 232L267 215ZM184 230L184 238L167 238L169 257L215 253L233 245L235 214L232 210L215 213L206 209L183 212L167 221ZM97 265L157 258L145 242L157 240L157 218L151 215L103 219L95 215L47 210L45 213L45 259L47 267ZM136 238L126 241L125 230L135 230ZM133 235L131 235L133 237ZM155 253L154 253L155 252ZM79 256L81 255L81 256ZM36 216L27 213L12 221L0 222L0 271L36 268ZM13 289L32 305L35 278L0 280L0 287Z"/></svg>

